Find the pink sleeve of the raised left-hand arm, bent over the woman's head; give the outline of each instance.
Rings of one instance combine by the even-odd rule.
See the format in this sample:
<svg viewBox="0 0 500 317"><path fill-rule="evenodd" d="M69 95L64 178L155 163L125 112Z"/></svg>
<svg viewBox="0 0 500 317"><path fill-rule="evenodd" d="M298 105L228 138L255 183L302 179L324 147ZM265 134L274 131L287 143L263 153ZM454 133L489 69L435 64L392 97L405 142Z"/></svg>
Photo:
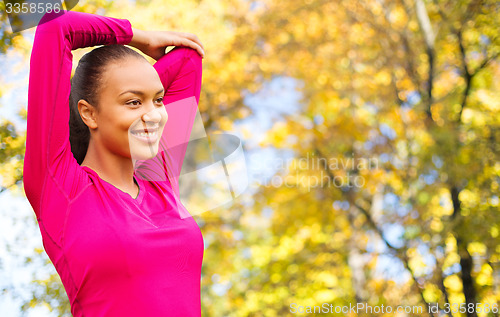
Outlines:
<svg viewBox="0 0 500 317"><path fill-rule="evenodd" d="M44 15L41 22L49 21L37 27L30 59L24 186L37 217L42 196L51 194L47 182L68 198L82 179L69 142L71 50L128 44L133 36L126 19L63 12Z"/></svg>

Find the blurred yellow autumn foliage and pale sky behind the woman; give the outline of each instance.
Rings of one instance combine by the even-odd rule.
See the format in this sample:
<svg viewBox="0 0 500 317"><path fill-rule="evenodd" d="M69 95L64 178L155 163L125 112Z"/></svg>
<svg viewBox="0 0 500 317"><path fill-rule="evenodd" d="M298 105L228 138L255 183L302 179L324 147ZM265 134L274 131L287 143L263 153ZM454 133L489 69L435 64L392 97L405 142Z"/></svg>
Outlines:
<svg viewBox="0 0 500 317"><path fill-rule="evenodd" d="M294 303L423 308L332 316L499 316L498 1L73 10L195 33L205 46L203 123L239 136L250 184L195 216L203 316L289 316ZM12 33L0 11L0 314L71 316L22 189L35 29ZM74 68L89 50L73 52ZM482 306L429 312L436 303Z"/></svg>

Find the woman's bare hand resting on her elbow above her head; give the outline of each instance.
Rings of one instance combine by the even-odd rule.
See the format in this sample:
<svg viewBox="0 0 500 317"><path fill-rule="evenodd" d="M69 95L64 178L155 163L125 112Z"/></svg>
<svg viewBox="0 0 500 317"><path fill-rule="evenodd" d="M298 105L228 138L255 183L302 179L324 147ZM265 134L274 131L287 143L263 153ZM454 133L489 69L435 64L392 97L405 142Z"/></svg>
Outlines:
<svg viewBox="0 0 500 317"><path fill-rule="evenodd" d="M191 33L174 31L144 31L132 28L134 36L129 45L139 49L154 60L165 55L167 46L187 46L195 49L201 57L205 57L203 44Z"/></svg>

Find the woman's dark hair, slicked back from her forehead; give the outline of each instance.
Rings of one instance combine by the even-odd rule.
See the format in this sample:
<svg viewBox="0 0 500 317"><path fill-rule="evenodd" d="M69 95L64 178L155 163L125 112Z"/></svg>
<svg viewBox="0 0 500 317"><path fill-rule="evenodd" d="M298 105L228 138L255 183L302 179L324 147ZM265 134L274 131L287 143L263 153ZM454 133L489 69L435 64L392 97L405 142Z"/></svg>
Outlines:
<svg viewBox="0 0 500 317"><path fill-rule="evenodd" d="M107 65L126 57L137 57L147 61L144 56L124 45L104 45L83 55L71 78L69 96L69 141L71 152L78 164L82 164L90 141L90 130L78 112L78 101L83 99L98 107L102 77Z"/></svg>

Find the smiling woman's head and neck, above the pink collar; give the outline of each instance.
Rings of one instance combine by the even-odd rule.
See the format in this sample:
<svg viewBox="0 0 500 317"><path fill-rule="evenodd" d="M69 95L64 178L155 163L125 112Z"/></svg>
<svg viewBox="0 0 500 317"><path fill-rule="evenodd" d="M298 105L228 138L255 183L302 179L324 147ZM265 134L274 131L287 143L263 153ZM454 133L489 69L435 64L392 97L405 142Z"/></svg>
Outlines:
<svg viewBox="0 0 500 317"><path fill-rule="evenodd" d="M102 56L111 55L109 51L123 55L119 60L114 59L103 65L102 61L109 57ZM87 98L75 93L76 97L72 98L73 117L76 117L74 121L85 126L83 129L90 130L87 147L83 145L86 155L81 165L100 170L101 177L110 178L106 175L110 171L103 171L100 166L103 156L106 156L104 160L113 162L111 165L117 170L123 171L130 168L131 157L148 159L158 152L159 135L168 118L162 102L165 89L154 67L125 46L103 46L89 54L92 53L95 56L76 69L78 80L75 82L88 83L84 74L89 73L88 68L96 69L100 75L93 89L97 91L97 97ZM87 66L89 64L92 66ZM76 91L81 86L85 85L73 85L75 88L72 90ZM88 87L86 89L91 91ZM89 99L93 99L93 103L89 103ZM78 138L77 133L74 135Z"/></svg>

